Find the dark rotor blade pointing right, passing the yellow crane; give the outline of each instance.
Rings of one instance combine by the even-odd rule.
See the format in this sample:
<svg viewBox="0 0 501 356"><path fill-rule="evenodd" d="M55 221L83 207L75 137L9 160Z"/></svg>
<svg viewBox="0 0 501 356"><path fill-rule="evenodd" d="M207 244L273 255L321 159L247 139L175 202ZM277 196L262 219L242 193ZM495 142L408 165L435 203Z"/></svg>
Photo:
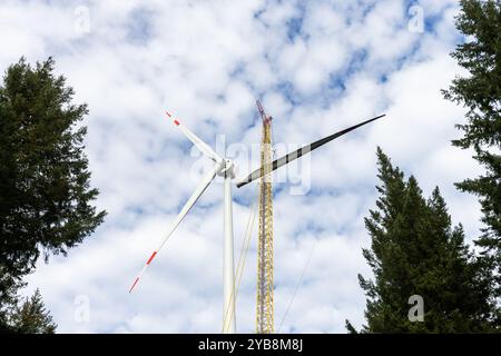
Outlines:
<svg viewBox="0 0 501 356"><path fill-rule="evenodd" d="M350 131L353 131L353 130L357 129L358 127L364 126L364 125L366 125L366 123L369 123L369 122L372 122L372 121L375 121L375 120L377 120L377 119L381 119L381 118L384 117L384 116L386 116L386 115L380 115L380 116L377 116L377 117L375 117L375 118L372 118L372 119L370 119L370 120L360 122L360 123L357 123L357 125L355 125L355 126L348 127L348 128L346 128L346 129L344 129L344 130L341 130L341 131L338 131L338 132L336 132L336 134L333 134L333 135L331 135L331 136L324 137L323 139L320 139L320 140L313 142L313 144L306 145L306 146L304 146L304 147L302 147L302 148L299 148L299 149L297 149L297 150L295 150L295 151L292 151L291 154L287 154L287 155L285 155L285 156L278 158L278 159L275 159L275 160L271 164L271 165L272 165L271 171L272 171L272 170L275 170L275 169L277 169L277 168L279 168L279 167L282 167L282 166L287 165L288 162L292 162L293 160L299 158L301 156L304 156L304 155L306 155L306 154L313 151L314 149L316 149L316 148L318 148L318 147L321 147L321 146L323 146L323 145L330 142L330 141L332 141L333 139L338 138L340 136L343 136L343 135L345 135L345 134L347 134L347 132L350 132ZM240 187L243 187L243 186L249 184L250 181L261 178L261 177L263 176L263 172L264 172L264 169L262 169L262 168L263 168L263 167L257 168L255 171L253 171L253 172L252 172L250 175L248 175L246 178L244 178L244 179L242 179L240 181L238 181L237 185L236 185L237 188L240 188Z"/></svg>

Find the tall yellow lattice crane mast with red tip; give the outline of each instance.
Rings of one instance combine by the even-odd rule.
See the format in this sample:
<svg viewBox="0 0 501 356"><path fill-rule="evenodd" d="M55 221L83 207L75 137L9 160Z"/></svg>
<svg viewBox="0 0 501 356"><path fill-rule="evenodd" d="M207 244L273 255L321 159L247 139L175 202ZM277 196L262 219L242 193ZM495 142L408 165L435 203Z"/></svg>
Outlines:
<svg viewBox="0 0 501 356"><path fill-rule="evenodd" d="M272 117L257 100L263 119L261 140L259 231L257 238L257 334L273 334L273 187L272 187Z"/></svg>

